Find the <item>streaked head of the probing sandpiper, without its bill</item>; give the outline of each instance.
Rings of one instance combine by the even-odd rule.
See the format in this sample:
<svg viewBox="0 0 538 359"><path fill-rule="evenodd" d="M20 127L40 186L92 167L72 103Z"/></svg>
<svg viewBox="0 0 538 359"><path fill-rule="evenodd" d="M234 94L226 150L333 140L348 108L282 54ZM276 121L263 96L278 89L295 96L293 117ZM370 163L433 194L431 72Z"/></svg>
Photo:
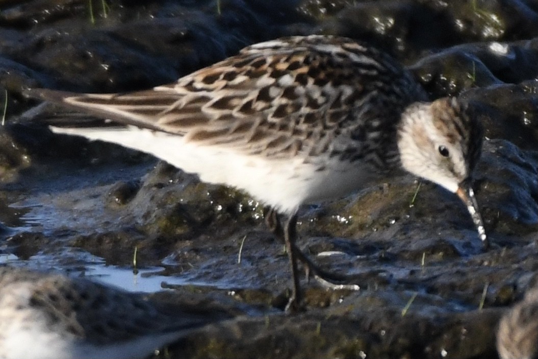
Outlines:
<svg viewBox="0 0 538 359"><path fill-rule="evenodd" d="M482 148L483 129L456 98L410 105L398 129L402 166L451 192L468 179Z"/></svg>

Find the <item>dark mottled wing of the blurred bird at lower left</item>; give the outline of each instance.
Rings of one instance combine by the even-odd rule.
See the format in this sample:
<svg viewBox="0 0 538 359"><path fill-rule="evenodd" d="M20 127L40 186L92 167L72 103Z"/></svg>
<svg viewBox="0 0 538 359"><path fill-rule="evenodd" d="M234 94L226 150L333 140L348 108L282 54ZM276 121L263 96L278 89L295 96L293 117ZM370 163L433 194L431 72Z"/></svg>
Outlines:
<svg viewBox="0 0 538 359"><path fill-rule="evenodd" d="M160 312L140 294L61 275L38 278L31 305L43 309L51 329L60 327L59 332L99 345L188 330L225 317L223 313L182 308Z"/></svg>

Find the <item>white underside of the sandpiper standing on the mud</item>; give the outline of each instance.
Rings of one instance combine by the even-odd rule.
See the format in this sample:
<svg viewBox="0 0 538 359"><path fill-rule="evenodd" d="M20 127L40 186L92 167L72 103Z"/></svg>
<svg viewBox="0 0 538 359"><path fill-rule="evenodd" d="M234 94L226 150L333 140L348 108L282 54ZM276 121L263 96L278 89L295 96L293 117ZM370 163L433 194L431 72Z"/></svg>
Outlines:
<svg viewBox="0 0 538 359"><path fill-rule="evenodd" d="M279 212L293 213L303 203L338 198L360 189L371 170L335 158L275 160L244 155L224 146L199 146L182 136L147 129L64 129L54 132L121 144L153 154L208 183L243 189ZM317 170L323 165L323 170Z"/></svg>

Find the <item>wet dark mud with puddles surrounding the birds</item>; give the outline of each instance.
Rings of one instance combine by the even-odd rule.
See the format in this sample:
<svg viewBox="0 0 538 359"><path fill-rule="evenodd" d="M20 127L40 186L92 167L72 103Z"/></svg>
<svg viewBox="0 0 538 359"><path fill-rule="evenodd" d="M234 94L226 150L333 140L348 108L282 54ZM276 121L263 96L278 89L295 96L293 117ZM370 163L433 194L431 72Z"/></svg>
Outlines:
<svg viewBox="0 0 538 359"><path fill-rule="evenodd" d="M154 300L214 301L243 314L160 357L496 356L499 316L537 280L538 2L91 4L1 4L3 263L105 281L96 270L117 268L140 283L164 278ZM411 176L305 206L302 249L361 289L304 281L307 311L285 315L287 256L255 199L151 156L19 121L38 105L20 95L26 87L148 88L246 45L311 33L367 40L409 66L431 98L460 95L477 108L486 140L474 188L491 248L454 195Z"/></svg>

